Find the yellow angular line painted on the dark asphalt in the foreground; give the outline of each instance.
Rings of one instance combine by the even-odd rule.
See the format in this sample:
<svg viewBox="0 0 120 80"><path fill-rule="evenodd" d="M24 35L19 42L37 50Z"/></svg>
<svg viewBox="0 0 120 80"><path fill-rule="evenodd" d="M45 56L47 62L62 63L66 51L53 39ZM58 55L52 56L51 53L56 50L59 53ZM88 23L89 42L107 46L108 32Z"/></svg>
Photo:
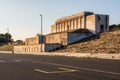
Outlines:
<svg viewBox="0 0 120 80"><path fill-rule="evenodd" d="M55 73L70 73L70 72L76 72L77 70L67 69L67 68L59 68L62 71L45 71L40 69L34 69L37 72L45 73L45 74L55 74Z"/></svg>

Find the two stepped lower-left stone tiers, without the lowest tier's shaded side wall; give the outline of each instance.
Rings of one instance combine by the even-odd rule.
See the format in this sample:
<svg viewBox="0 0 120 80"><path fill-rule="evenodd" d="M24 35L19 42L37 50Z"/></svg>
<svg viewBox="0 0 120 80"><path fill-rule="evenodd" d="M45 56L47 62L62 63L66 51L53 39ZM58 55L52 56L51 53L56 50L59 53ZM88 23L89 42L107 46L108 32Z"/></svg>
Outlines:
<svg viewBox="0 0 120 80"><path fill-rule="evenodd" d="M42 38L42 39L41 39ZM35 37L26 38L25 45L14 46L14 52L35 53L44 52L45 36L37 34Z"/></svg>

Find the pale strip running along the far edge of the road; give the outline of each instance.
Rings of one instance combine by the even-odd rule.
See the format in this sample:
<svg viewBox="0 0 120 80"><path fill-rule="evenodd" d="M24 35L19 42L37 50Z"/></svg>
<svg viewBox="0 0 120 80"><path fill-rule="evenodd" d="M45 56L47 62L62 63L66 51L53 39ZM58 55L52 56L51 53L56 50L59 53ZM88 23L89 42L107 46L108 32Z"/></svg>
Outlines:
<svg viewBox="0 0 120 80"><path fill-rule="evenodd" d="M10 53L12 51L0 51L0 53ZM101 59L116 59L120 60L120 53L119 54L105 54L105 53L61 53L61 52L42 52L42 53L14 53L14 54L28 54L28 55L46 55L46 56L66 56L66 57L82 57L82 58L101 58Z"/></svg>

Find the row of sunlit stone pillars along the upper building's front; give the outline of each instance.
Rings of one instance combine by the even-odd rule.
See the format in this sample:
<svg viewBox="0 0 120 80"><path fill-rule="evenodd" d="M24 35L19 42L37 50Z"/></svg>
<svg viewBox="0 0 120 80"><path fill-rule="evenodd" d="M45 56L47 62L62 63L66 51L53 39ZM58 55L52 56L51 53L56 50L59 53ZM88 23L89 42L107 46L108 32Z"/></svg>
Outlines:
<svg viewBox="0 0 120 80"><path fill-rule="evenodd" d="M71 31L80 28L86 28L86 17L75 17L72 19L65 19L55 24L55 32Z"/></svg>

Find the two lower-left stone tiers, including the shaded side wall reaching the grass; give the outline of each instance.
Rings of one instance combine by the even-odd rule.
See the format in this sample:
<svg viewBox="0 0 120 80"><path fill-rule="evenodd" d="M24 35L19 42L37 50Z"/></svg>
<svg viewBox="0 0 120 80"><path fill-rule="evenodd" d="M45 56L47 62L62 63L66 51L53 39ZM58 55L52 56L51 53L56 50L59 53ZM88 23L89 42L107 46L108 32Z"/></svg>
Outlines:
<svg viewBox="0 0 120 80"><path fill-rule="evenodd" d="M39 53L52 51L59 47L61 47L59 43L46 43L45 36L41 39L41 35L37 34L36 37L26 38L25 45L14 46L14 53Z"/></svg>

